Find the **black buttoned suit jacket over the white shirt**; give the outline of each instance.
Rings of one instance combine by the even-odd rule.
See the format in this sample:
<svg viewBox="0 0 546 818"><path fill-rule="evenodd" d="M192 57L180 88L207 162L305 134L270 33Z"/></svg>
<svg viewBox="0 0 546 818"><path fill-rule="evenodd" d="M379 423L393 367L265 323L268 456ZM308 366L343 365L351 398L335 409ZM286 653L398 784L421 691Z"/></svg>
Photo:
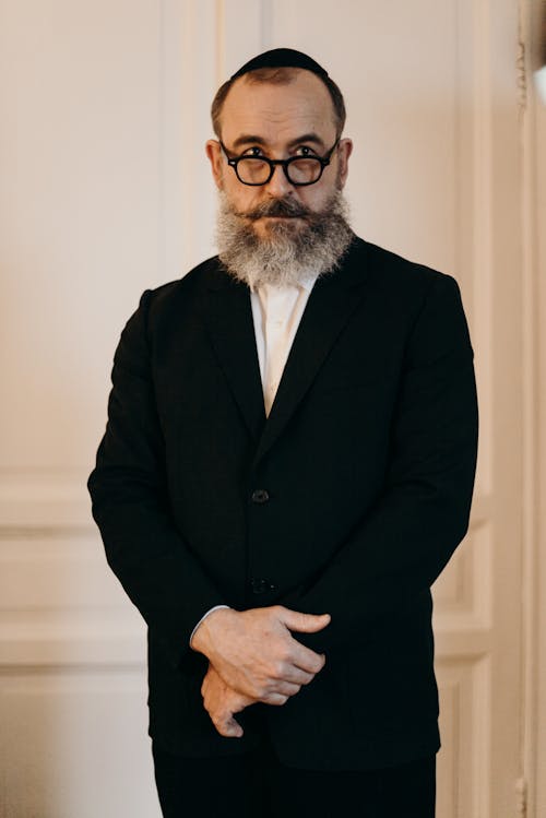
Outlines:
<svg viewBox="0 0 546 818"><path fill-rule="evenodd" d="M147 291L115 356L90 478L108 562L149 626L150 733L191 756L245 751L261 712L314 769L438 749L430 585L467 530L477 446L456 282L355 238L318 280L265 419L248 288L217 259ZM188 648L213 605L330 613L282 708L221 737Z"/></svg>

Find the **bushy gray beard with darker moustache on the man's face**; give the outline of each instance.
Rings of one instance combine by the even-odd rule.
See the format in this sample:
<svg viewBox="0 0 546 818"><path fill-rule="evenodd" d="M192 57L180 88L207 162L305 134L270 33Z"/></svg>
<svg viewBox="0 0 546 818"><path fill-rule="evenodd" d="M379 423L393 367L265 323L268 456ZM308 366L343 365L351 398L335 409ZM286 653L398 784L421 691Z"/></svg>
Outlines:
<svg viewBox="0 0 546 818"><path fill-rule="evenodd" d="M289 220L270 223L268 236L262 238L252 223L264 215L297 216L305 224ZM252 288L263 284L297 286L340 265L354 236L347 220L348 205L341 190L320 213L292 199L275 199L245 214L238 213L221 191L216 228L219 260L235 278Z"/></svg>

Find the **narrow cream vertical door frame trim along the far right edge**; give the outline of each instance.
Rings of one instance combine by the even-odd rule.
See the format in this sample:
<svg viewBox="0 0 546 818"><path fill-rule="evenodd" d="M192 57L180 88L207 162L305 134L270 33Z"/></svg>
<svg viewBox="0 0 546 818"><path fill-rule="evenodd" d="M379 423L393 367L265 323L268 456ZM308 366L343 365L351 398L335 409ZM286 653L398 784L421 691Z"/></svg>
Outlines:
<svg viewBox="0 0 546 818"><path fill-rule="evenodd" d="M541 100L532 81L541 50L539 36L546 13L544 3L519 0L519 59L515 64L520 91L520 168L521 168L521 264L523 294L523 514L522 514L522 663L524 674L524 702L521 735L522 782L527 782L526 805L530 816L542 815L546 808L546 786L539 775L546 758L544 726L544 696L546 662L542 655L541 621L546 621L546 574L541 572L539 546L544 536L541 520L541 498L545 496L546 451L541 435L545 394L541 386L541 365L545 349L543 327L546 321L545 303L541 299L541 201L546 192L544 176L545 153L541 147ZM544 121L544 120L543 120ZM542 163L542 164L541 164ZM539 173L543 177L539 177ZM542 205L544 214L544 204ZM544 272L544 270L543 270Z"/></svg>

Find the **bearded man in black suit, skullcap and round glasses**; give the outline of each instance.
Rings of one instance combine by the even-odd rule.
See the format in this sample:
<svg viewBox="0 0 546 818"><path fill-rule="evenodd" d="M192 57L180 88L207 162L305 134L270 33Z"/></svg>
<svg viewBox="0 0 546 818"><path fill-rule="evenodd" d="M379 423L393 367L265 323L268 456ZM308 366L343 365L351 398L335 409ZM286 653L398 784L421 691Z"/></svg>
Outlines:
<svg viewBox="0 0 546 818"><path fill-rule="evenodd" d="M429 589L477 443L459 287L351 230L310 57L260 55L212 112L219 258L144 293L90 478L164 815L429 818Z"/></svg>

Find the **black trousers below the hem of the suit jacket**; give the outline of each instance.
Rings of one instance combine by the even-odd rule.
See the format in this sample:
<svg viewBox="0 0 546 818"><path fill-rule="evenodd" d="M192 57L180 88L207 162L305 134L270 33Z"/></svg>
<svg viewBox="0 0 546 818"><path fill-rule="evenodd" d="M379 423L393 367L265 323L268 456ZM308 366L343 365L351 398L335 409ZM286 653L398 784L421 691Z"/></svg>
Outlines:
<svg viewBox="0 0 546 818"><path fill-rule="evenodd" d="M284 767L264 744L238 757L190 759L153 746L164 818L434 818L436 756L384 770Z"/></svg>

